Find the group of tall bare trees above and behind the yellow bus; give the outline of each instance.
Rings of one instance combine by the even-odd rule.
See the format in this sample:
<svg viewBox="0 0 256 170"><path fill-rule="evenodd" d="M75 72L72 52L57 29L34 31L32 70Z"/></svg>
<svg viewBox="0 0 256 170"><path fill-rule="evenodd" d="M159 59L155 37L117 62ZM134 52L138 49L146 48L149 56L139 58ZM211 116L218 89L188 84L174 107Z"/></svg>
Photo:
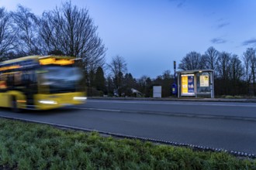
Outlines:
<svg viewBox="0 0 256 170"><path fill-rule="evenodd" d="M61 7L34 15L18 5L15 12L0 8L0 60L30 55L64 55L81 58L88 75L104 66L106 47L88 9L65 2Z"/></svg>

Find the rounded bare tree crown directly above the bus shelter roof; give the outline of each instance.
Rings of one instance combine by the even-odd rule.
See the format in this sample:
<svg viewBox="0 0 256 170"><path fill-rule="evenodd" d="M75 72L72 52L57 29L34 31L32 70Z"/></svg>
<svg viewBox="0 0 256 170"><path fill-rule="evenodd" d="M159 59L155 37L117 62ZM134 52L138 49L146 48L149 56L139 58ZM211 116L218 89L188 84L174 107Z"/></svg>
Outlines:
<svg viewBox="0 0 256 170"><path fill-rule="evenodd" d="M178 68L182 70L200 70L205 68L205 62L205 58L200 53L193 51L183 57Z"/></svg>

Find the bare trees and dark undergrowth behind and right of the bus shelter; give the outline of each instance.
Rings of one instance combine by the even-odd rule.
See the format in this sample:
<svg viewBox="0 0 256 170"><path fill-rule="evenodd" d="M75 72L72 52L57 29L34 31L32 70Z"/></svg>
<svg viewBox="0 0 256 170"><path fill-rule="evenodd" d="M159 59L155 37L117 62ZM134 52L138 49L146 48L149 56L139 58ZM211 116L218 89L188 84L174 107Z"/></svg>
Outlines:
<svg viewBox="0 0 256 170"><path fill-rule="evenodd" d="M243 56L219 52L213 46L204 54L195 51L182 58L181 70L214 70L216 95L246 95L256 93L256 49L247 48Z"/></svg>

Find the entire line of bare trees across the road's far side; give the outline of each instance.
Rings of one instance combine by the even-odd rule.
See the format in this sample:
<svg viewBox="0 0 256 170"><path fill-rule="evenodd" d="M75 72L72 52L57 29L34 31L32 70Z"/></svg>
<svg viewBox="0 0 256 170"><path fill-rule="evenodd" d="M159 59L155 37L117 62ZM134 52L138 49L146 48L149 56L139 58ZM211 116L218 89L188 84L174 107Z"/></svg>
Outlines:
<svg viewBox="0 0 256 170"><path fill-rule="evenodd" d="M114 56L106 63L106 47L97 34L87 8L71 2L34 15L18 5L16 11L0 8L0 61L29 55L65 55L81 58L89 96L151 97L153 86L162 86L162 97L171 95L174 74L133 78L123 56ZM171 61L170 61L171 62ZM209 47L206 53L190 52L178 65L180 70L214 70L216 95L254 95L256 93L255 49L243 56L219 52Z"/></svg>

